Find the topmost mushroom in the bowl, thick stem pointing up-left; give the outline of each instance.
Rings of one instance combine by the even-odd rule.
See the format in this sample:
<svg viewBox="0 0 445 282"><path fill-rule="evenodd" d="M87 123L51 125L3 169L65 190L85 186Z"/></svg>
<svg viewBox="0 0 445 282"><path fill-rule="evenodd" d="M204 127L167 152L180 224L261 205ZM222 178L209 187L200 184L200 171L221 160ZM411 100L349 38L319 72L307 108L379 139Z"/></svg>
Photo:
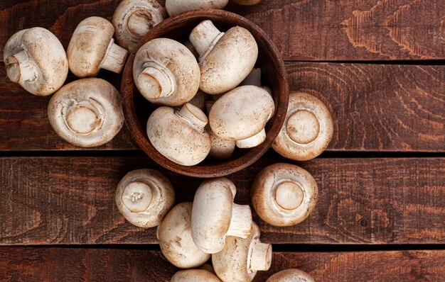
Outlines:
<svg viewBox="0 0 445 282"><path fill-rule="evenodd" d="M257 62L257 43L249 30L240 26L222 33L211 21L203 21L189 39L200 55L200 89L207 94L234 89Z"/></svg>

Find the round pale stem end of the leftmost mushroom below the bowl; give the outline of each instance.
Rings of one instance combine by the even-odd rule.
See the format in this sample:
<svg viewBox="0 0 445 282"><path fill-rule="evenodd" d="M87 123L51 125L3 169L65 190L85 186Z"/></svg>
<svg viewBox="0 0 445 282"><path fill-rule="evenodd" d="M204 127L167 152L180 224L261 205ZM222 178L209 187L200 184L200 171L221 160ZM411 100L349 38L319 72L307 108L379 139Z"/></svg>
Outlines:
<svg viewBox="0 0 445 282"><path fill-rule="evenodd" d="M141 213L153 201L151 187L141 181L130 182L122 193L122 203L132 212Z"/></svg>

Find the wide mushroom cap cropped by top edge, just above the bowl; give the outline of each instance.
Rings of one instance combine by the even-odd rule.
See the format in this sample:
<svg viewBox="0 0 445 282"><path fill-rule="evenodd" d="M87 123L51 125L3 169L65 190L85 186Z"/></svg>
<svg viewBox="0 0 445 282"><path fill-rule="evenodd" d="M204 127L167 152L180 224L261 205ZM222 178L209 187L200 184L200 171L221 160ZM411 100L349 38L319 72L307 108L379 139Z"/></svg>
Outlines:
<svg viewBox="0 0 445 282"><path fill-rule="evenodd" d="M224 9L229 0L166 0L168 15L200 9Z"/></svg>

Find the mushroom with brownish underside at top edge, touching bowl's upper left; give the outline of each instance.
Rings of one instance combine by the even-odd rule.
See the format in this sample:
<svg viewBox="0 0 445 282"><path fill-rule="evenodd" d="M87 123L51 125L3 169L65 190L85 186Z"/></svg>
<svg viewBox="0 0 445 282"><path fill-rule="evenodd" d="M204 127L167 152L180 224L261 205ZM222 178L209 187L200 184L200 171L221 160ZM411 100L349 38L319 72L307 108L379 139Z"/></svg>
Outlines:
<svg viewBox="0 0 445 282"><path fill-rule="evenodd" d="M156 0L122 1L112 20L117 43L133 52L139 40L166 17L166 10Z"/></svg>

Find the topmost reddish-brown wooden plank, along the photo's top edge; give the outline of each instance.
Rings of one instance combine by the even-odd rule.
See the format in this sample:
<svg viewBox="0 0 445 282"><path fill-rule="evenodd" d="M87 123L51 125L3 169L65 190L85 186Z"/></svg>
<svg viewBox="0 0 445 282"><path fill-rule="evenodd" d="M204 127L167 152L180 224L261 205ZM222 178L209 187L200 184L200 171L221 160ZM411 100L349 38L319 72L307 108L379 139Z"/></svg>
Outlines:
<svg viewBox="0 0 445 282"><path fill-rule="evenodd" d="M159 1L164 4L165 1ZM0 54L23 28L50 29L68 46L87 16L111 18L119 0L4 0L0 3ZM257 23L285 60L431 60L445 58L442 0L281 0L227 10ZM0 56L0 60L3 55Z"/></svg>

